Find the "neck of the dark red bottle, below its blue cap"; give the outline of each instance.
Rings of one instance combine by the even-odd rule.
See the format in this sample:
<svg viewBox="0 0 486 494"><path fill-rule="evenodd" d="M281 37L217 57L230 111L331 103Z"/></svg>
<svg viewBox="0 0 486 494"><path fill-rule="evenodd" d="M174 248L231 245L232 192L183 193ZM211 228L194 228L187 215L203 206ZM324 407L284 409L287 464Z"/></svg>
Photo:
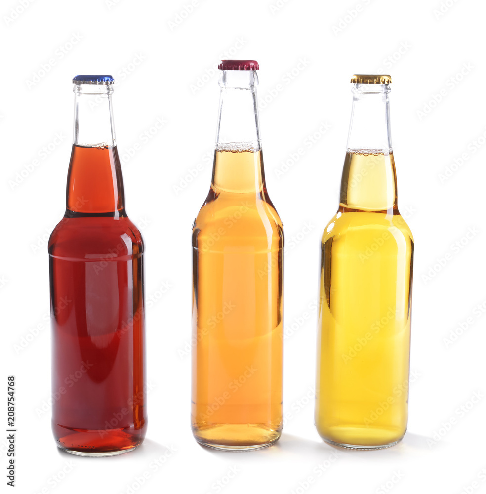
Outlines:
<svg viewBox="0 0 486 494"><path fill-rule="evenodd" d="M75 84L67 216L124 216L124 191L111 95L105 84Z"/></svg>

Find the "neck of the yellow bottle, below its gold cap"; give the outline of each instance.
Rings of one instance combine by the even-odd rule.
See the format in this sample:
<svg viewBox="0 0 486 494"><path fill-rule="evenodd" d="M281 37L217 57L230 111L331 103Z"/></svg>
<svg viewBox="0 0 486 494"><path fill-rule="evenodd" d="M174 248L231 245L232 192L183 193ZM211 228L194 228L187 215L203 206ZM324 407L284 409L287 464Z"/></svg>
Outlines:
<svg viewBox="0 0 486 494"><path fill-rule="evenodd" d="M397 209L397 178L390 132L389 84L354 84L341 207Z"/></svg>

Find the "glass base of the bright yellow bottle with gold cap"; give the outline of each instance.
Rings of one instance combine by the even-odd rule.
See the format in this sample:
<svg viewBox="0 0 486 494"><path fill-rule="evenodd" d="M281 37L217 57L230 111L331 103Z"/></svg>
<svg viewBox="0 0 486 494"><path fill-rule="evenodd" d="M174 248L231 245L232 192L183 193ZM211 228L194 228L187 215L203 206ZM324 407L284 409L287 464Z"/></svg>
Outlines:
<svg viewBox="0 0 486 494"><path fill-rule="evenodd" d="M326 443L351 450L391 448L405 436L405 432L397 429L379 427L330 427L325 432L318 432Z"/></svg>

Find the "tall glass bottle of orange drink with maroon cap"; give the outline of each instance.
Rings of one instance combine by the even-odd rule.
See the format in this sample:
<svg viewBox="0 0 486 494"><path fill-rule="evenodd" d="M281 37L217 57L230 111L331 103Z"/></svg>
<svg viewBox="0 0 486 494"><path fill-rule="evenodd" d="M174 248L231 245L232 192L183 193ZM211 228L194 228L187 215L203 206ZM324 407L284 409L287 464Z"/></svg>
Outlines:
<svg viewBox="0 0 486 494"><path fill-rule="evenodd" d="M223 60L212 183L193 226L192 428L250 450L282 429L283 227L265 187L258 63Z"/></svg>

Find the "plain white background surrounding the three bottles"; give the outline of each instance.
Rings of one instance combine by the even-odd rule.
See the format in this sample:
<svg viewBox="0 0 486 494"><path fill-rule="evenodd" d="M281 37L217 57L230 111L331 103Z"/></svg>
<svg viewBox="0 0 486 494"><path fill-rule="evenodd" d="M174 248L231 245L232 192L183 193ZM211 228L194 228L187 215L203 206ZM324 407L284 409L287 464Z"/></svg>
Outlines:
<svg viewBox="0 0 486 494"><path fill-rule="evenodd" d="M17 492L460 493L475 481L467 492L485 492L478 473L486 467L486 399L470 402L475 392L486 394L486 316L477 309L486 301L484 2L447 0L441 13L440 0L198 0L181 14L190 0L23 1L28 7L20 15L12 14L22 10L19 0L0 7L0 375L17 379ZM250 453L216 452L194 441L191 359L182 354L191 337L191 225L210 185L219 96L213 69L220 58L260 63L267 187L287 243L288 419L277 445ZM349 79L376 72L393 78L399 207L415 238L416 377L402 443L359 452L328 446L314 428L316 313L309 305L317 297L320 237L338 206ZM48 406L46 240L64 213L71 79L79 73L118 81L114 112L126 205L145 239L147 302L154 300L147 313L147 438L133 453L99 459L56 448ZM282 90L272 96L278 84ZM163 127L142 138L159 118ZM329 130L319 134L326 123ZM59 145L51 144L56 134ZM137 143L138 151L127 154ZM278 175L299 147L304 155ZM463 165L454 165L463 154ZM451 176L441 180L447 167ZM29 168L13 187L17 173ZM191 170L196 176L184 186ZM461 247L453 247L457 242ZM446 344L451 332L456 341ZM6 395L6 384L0 388ZM5 444L1 439L2 484ZM231 469L237 473L229 479Z"/></svg>

